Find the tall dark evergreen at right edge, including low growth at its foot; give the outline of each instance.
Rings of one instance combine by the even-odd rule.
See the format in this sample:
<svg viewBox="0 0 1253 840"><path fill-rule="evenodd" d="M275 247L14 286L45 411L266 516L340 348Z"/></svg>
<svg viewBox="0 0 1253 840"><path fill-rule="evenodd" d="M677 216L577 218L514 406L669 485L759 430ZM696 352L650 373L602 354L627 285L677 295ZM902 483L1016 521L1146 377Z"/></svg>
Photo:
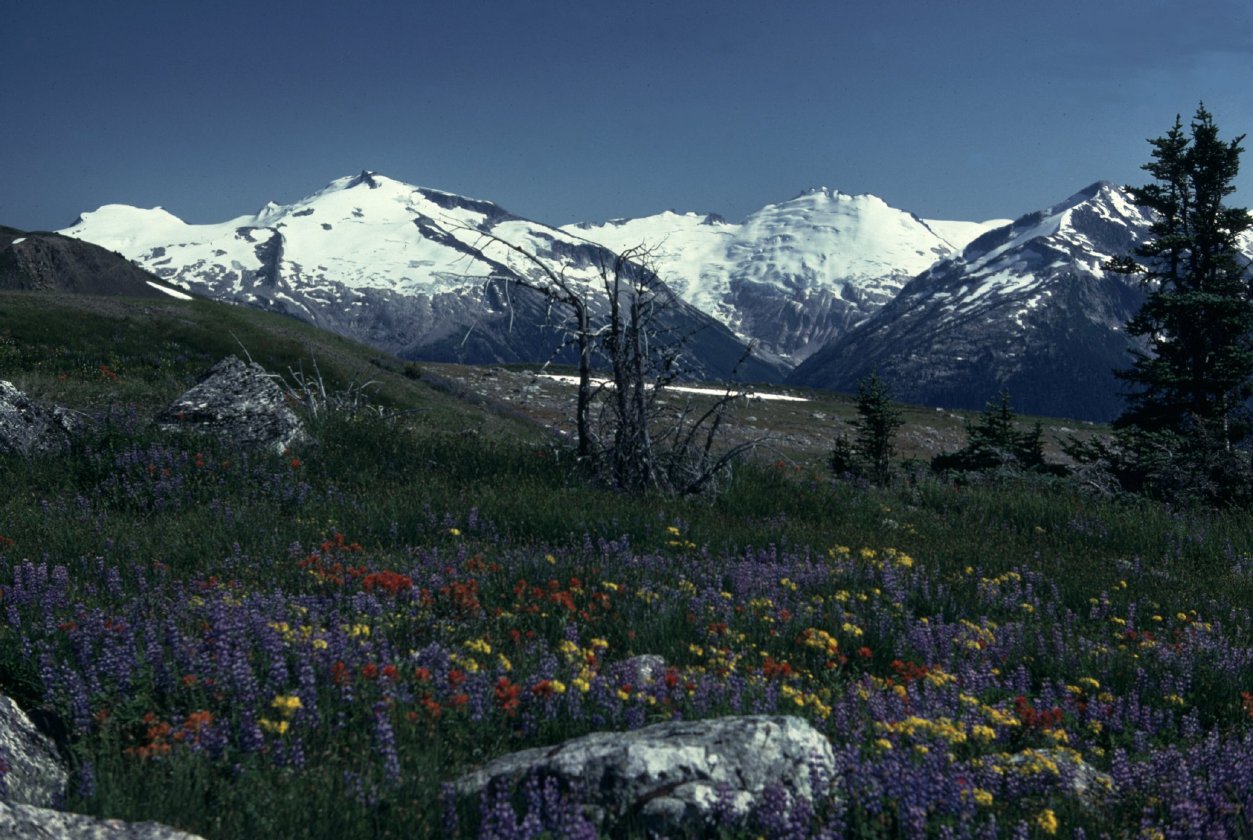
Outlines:
<svg viewBox="0 0 1253 840"><path fill-rule="evenodd" d="M1116 448L1088 448L1085 460L1104 461L1126 489L1233 503L1253 490L1242 448L1253 433L1253 288L1239 249L1253 218L1224 204L1244 137L1219 139L1204 105L1189 128L1177 117L1149 140L1144 169L1154 182L1128 188L1154 214L1150 239L1108 267L1139 275L1150 290L1126 323L1148 352L1118 371L1130 392L1114 423Z"/></svg>

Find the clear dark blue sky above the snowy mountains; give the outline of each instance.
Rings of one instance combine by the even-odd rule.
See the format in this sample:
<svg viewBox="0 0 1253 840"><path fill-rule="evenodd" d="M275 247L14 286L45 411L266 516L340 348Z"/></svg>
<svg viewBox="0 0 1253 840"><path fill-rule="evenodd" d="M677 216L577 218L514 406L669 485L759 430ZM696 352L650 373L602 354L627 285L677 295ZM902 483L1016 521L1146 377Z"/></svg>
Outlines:
<svg viewBox="0 0 1253 840"><path fill-rule="evenodd" d="M363 168L554 224L814 186L984 219L1143 183L1202 99L1253 133L1253 3L0 0L0 90L23 228L224 221Z"/></svg>

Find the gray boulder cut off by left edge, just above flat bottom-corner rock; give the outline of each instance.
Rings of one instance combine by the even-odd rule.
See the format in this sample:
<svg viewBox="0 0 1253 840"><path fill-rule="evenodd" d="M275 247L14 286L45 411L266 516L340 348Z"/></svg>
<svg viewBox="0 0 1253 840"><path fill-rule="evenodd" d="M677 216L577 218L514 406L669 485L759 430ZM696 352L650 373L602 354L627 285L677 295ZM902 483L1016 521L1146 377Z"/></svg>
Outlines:
<svg viewBox="0 0 1253 840"><path fill-rule="evenodd" d="M0 695L0 802L58 805L68 784L69 774L53 742L18 703ZM0 830L0 836L9 835Z"/></svg>

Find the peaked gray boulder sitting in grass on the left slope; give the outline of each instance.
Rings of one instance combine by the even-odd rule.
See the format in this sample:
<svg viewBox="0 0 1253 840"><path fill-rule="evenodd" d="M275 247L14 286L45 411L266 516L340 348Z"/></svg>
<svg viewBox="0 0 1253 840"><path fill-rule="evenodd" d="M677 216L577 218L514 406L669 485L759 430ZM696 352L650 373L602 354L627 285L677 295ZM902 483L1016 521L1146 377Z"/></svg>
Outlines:
<svg viewBox="0 0 1253 840"><path fill-rule="evenodd" d="M257 364L227 356L192 390L157 416L163 431L194 431L222 438L246 449L282 454L308 440L283 390Z"/></svg>

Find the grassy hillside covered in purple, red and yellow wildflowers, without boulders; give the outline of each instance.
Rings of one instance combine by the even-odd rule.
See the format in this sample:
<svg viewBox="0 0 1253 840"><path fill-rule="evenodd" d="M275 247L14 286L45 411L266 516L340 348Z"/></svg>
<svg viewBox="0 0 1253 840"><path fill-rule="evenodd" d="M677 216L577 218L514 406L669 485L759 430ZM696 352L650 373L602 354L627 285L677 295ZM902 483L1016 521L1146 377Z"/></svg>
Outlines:
<svg viewBox="0 0 1253 840"><path fill-rule="evenodd" d="M322 417L281 458L147 430L239 344L377 380L393 414ZM0 296L0 379L104 417L74 453L0 460L0 690L59 733L75 809L212 839L535 836L501 822L530 810L563 836L568 811L441 784L777 711L842 767L797 836L1253 830L1247 513L768 460L717 498L626 498L403 362L202 301ZM621 676L640 653L663 678ZM1076 796L1081 765L1108 776Z"/></svg>

